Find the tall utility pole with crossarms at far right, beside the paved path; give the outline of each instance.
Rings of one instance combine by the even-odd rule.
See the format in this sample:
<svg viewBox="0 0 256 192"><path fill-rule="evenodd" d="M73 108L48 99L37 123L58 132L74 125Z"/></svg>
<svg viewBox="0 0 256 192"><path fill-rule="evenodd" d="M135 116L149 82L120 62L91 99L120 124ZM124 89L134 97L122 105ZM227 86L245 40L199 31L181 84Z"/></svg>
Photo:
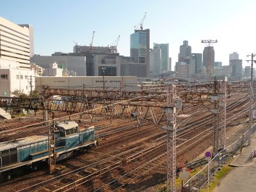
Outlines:
<svg viewBox="0 0 256 192"><path fill-rule="evenodd" d="M249 54L248 57L251 57L251 60L246 60L247 62L251 61L251 86L250 86L250 120L249 120L249 127L248 127L248 145L251 145L251 137L252 137L252 132L251 132L251 127L252 127L252 95L253 95L253 62L256 62L256 60L253 60L255 57L255 54Z"/></svg>

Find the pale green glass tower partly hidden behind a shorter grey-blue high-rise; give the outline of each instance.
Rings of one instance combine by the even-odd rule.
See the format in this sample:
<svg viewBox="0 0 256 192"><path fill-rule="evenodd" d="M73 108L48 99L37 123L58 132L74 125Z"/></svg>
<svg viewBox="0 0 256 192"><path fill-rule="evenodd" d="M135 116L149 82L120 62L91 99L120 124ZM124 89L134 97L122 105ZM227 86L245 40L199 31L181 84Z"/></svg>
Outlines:
<svg viewBox="0 0 256 192"><path fill-rule="evenodd" d="M169 66L169 44L156 44L154 47L160 47L161 49L161 70L170 71Z"/></svg>

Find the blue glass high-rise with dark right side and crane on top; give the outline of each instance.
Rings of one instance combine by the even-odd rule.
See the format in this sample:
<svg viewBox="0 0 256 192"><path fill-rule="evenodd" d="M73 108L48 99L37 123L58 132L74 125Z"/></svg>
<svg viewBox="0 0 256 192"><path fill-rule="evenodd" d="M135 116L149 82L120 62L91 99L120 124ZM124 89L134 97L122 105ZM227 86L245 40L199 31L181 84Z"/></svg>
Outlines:
<svg viewBox="0 0 256 192"><path fill-rule="evenodd" d="M146 75L149 76L150 68L150 30L136 30L130 35L130 56L135 63L146 64Z"/></svg>

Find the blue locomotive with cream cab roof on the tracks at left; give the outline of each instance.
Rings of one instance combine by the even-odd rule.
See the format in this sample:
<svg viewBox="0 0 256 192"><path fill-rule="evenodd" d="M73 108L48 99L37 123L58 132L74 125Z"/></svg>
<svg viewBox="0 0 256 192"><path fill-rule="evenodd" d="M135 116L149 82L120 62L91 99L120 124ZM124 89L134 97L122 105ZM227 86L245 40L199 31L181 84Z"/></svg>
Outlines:
<svg viewBox="0 0 256 192"><path fill-rule="evenodd" d="M55 124L56 161L72 157L96 145L95 127L79 127L76 122L57 122ZM36 170L39 163L47 161L47 134L28 136L0 143L0 178L10 179L24 168Z"/></svg>

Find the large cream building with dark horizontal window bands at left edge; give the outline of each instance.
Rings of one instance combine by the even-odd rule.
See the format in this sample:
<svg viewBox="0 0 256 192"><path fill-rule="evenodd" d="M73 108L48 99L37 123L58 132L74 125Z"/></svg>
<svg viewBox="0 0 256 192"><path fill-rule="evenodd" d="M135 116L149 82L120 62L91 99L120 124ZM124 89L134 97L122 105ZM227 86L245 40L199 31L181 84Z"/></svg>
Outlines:
<svg viewBox="0 0 256 192"><path fill-rule="evenodd" d="M19 62L30 68L29 29L0 17L0 59Z"/></svg>

